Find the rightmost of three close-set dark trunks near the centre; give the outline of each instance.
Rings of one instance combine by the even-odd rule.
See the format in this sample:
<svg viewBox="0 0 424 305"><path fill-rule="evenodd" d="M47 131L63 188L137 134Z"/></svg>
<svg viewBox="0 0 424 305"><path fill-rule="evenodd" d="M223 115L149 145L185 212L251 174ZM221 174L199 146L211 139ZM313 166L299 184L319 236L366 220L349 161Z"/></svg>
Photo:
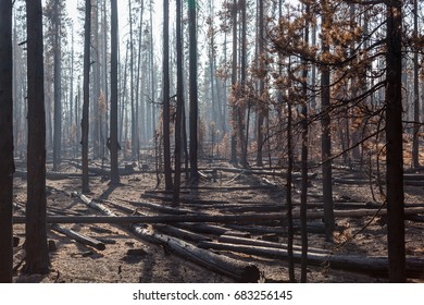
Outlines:
<svg viewBox="0 0 424 305"><path fill-rule="evenodd" d="M197 183L198 173L198 88L197 88L197 20L196 0L188 0L188 23L189 23L189 82L190 82L190 181Z"/></svg>

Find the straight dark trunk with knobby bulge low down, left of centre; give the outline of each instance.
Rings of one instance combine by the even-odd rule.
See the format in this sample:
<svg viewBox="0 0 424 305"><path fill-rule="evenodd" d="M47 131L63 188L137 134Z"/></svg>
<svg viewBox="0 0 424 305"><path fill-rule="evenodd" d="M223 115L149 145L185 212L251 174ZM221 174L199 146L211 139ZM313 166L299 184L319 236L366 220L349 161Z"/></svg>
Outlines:
<svg viewBox="0 0 424 305"><path fill-rule="evenodd" d="M117 4L111 0L111 185L120 183L117 168Z"/></svg>

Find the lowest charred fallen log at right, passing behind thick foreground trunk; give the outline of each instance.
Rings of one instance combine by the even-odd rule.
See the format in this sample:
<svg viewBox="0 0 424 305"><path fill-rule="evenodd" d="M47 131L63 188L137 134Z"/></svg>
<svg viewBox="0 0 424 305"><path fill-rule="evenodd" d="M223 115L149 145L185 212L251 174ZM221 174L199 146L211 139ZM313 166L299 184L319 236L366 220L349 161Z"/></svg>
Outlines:
<svg viewBox="0 0 424 305"><path fill-rule="evenodd" d="M248 255L272 257L286 260L288 257L286 249L234 245L215 242L201 242L199 247L213 248L221 251L230 251L244 253ZM295 263L300 263L301 253L294 249ZM388 274L388 258L387 257L364 257L359 255L328 255L319 253L308 253L308 264L312 266L329 267L333 269L348 270L353 272L364 272L372 276ZM416 257L407 258L407 277L423 278L424 277L424 259Z"/></svg>

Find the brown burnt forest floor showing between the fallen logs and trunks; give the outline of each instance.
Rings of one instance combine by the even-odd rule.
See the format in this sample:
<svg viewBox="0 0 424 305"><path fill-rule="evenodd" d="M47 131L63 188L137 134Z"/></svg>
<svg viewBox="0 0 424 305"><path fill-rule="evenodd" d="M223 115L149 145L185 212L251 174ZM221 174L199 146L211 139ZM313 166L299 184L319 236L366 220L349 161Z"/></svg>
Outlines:
<svg viewBox="0 0 424 305"><path fill-rule="evenodd" d="M79 170L76 162L64 161L60 172L63 176L49 176L48 186L48 213L49 215L100 215L83 204L78 197L70 196L72 192L80 191ZM100 164L95 162L90 167L100 169ZM286 203L285 179L273 176L270 173L247 174L244 172L228 172L225 168L232 168L228 163L214 161L202 164L204 176L199 183L199 187L183 188L184 199L179 208L191 209L197 212L208 212L211 215L242 215L261 212L254 205L263 204L265 207L273 205L284 205ZM209 170L208 170L209 169ZM213 171L212 169L217 169ZM313 170L311 170L313 172ZM212 174L211 174L212 173ZM371 203L373 196L366 174L360 170L351 170L344 167L334 170L334 198L337 207L346 203ZM358 183L349 183L342 179L358 178ZM54 179L53 179L54 178ZM316 175L311 179L308 203L311 204L310 211L320 210L322 203L321 182ZM337 183L337 179L340 183ZM184 179L183 179L184 181ZM26 202L26 179L24 175L15 175L15 216L24 215ZM121 185L111 187L108 178L96 174L90 178L91 193L87 196L105 207L114 209L121 215L133 215L142 212L147 215L160 215L160 212L149 209L137 203L154 203L162 206L171 206L167 194L163 191L163 180L157 187L157 175L154 172L142 172L136 169L134 173L121 176ZM186 185L183 183L183 185ZM377 186L373 190L377 194ZM299 203L300 183L294 183L294 202ZM161 199L161 196L163 197ZM377 196L378 197L378 196ZM407 205L421 205L424 207L424 187L406 186ZM208 204L209 203L209 204ZM316 206L313 206L316 204ZM116 209L116 205L126 208ZM352 205L353 206L353 205ZM242 207L247 207L242 211ZM297 206L298 207L298 206ZM377 211L377 209L374 209ZM273 211L274 213L285 213L285 211ZM373 212L374 213L374 212ZM295 221L295 224L298 223ZM229 235L238 235L252 240L271 240L280 244L287 243L285 224L279 222L266 222L260 224L244 224L245 227L232 227L225 223L214 223L228 230ZM336 232L334 243L325 242L321 219L310 221L314 230L309 232L309 246L333 252L337 255L356 255L366 261L370 257L386 256L387 254L387 225L384 217L336 217ZM117 224L62 224L84 235L88 235L105 244L105 249L99 251L91 246L77 243L70 237L52 230L48 230L48 239L52 241L55 248L50 252L51 272L49 274L28 276L22 272L25 257L23 244L25 242L25 228L23 224L14 225L14 234L20 237L20 245L14 248L15 282L78 282L78 283L182 283L182 282L234 282L235 279L226 274L211 271L202 266L191 263L187 257L178 256L170 251L166 245L147 242L126 227ZM266 230L253 230L252 228L269 228ZM150 231L160 230L160 227L146 224L145 229ZM235 229L236 228L236 229ZM242 229L245 228L245 229ZM278 229L282 229L278 231ZM250 230L250 231L249 231ZM233 233L232 233L233 232ZM273 233L274 232L274 233ZM278 233L282 232L282 233ZM406 245L408 257L424 257L424 223L407 221ZM216 241L219 236L203 234L210 240ZM344 243L346 242L346 243ZM300 233L295 231L295 244L300 245ZM341 246L342 245L342 246ZM261 282L286 282L288 281L288 264L286 257L264 257L249 254L240 254L230 251L212 251L221 256L235 258L242 264L251 264L258 267L261 274ZM424 270L417 270L421 274ZM296 278L300 278L300 266L296 264ZM344 268L332 268L332 264L308 267L309 282L387 282L384 274L375 274L359 270L358 272L344 270ZM410 278L410 282L424 282L421 276Z"/></svg>

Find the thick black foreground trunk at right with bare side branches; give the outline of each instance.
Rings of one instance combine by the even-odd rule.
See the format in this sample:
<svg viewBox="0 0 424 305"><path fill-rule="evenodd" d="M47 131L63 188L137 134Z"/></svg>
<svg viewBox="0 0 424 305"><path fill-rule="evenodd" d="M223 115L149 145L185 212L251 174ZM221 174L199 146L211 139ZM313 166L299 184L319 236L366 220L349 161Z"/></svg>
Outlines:
<svg viewBox="0 0 424 305"><path fill-rule="evenodd" d="M402 1L387 4L386 186L389 281L406 281L402 145Z"/></svg>

